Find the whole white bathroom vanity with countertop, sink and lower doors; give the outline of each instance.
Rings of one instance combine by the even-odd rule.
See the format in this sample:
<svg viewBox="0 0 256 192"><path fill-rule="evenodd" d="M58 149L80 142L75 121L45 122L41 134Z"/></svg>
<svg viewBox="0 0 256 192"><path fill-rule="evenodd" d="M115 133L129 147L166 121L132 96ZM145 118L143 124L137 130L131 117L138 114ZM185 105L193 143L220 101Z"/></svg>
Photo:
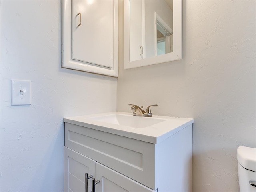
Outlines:
<svg viewBox="0 0 256 192"><path fill-rule="evenodd" d="M191 191L193 119L112 112L64 122L65 192L91 191L90 176L97 192Z"/></svg>

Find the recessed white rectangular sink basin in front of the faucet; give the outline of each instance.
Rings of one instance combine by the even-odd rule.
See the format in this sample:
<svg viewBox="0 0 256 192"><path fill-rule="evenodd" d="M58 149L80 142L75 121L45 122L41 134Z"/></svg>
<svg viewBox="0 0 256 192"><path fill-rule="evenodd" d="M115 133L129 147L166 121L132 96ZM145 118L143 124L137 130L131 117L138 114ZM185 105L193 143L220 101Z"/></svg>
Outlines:
<svg viewBox="0 0 256 192"><path fill-rule="evenodd" d="M139 117L123 114L111 114L106 116L86 118L88 120L112 123L117 125L129 126L132 128L145 128L154 124L166 121L166 119Z"/></svg>

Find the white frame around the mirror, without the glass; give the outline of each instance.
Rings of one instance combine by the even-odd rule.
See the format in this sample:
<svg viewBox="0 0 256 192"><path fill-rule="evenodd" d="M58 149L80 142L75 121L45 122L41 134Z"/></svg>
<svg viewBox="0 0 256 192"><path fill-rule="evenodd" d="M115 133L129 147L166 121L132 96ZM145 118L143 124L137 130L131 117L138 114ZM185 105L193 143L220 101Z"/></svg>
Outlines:
<svg viewBox="0 0 256 192"><path fill-rule="evenodd" d="M171 53L130 62L129 15L129 0L124 0L124 69L160 64L182 59L182 0L173 0L173 51Z"/></svg>

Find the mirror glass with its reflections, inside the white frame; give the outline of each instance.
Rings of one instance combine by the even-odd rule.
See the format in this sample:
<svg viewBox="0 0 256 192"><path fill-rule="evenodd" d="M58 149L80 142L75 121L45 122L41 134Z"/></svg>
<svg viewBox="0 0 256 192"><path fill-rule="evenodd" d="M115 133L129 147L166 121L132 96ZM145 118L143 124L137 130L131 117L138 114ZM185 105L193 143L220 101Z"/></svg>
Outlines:
<svg viewBox="0 0 256 192"><path fill-rule="evenodd" d="M172 52L173 0L130 0L130 61Z"/></svg>

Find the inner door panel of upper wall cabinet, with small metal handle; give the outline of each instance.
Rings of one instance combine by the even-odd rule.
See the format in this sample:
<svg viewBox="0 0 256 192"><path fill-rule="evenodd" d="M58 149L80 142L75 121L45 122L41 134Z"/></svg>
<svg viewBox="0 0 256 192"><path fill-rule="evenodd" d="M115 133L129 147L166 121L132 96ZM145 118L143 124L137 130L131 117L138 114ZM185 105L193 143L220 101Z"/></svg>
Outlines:
<svg viewBox="0 0 256 192"><path fill-rule="evenodd" d="M113 66L114 0L72 0L72 59Z"/></svg>

